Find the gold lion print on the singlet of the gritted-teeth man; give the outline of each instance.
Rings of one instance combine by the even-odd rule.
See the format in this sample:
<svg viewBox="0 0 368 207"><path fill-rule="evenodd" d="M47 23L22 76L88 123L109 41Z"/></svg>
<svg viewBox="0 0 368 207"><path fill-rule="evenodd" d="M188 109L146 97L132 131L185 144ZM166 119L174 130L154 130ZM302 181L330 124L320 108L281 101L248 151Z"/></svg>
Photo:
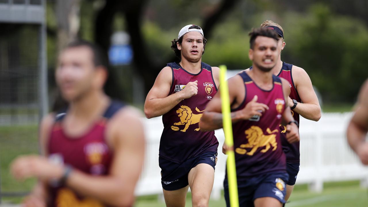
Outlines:
<svg viewBox="0 0 368 207"><path fill-rule="evenodd" d="M261 150L262 153L267 152L271 146L273 147L272 151L275 151L277 149L277 142L276 142L276 134L279 130L275 129L273 131L270 130L270 128L267 128L267 133L269 135L263 134L263 131L258 126L251 126L249 129L245 130L245 134L247 135L248 143L247 144L241 144L240 147L236 148L235 151L238 154L247 154L252 156L254 152L257 151L259 147L265 147L263 150ZM252 148L251 151L247 152L244 148Z"/></svg>

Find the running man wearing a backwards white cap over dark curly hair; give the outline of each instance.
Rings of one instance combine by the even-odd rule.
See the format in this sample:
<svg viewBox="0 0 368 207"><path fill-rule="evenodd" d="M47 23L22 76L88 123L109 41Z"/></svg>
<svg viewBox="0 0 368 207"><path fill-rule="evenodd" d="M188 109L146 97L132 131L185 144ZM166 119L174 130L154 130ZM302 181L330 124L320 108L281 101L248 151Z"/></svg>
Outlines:
<svg viewBox="0 0 368 207"><path fill-rule="evenodd" d="M147 118L162 116L159 165L168 207L184 207L190 187L192 206L208 206L217 147L214 131L199 131L199 120L217 92L219 68L201 62L207 40L197 25L183 27L171 49L180 63L168 63L149 91Z"/></svg>

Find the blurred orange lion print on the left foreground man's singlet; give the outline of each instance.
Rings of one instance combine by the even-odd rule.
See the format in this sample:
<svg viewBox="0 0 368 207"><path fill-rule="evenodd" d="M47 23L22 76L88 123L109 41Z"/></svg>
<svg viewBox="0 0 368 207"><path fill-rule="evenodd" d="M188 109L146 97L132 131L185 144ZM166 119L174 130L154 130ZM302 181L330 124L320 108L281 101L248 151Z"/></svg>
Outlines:
<svg viewBox="0 0 368 207"><path fill-rule="evenodd" d="M57 207L104 207L102 203L100 203L96 199L85 198L78 199L75 193L68 189L62 188L57 192L56 197L56 206Z"/></svg>

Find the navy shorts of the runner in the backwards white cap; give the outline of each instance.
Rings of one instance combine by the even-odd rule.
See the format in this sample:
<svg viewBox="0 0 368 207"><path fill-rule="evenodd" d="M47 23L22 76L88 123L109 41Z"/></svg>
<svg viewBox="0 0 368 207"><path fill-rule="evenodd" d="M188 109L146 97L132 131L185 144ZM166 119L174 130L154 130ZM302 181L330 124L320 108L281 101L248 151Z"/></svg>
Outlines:
<svg viewBox="0 0 368 207"><path fill-rule="evenodd" d="M205 152L181 164L159 157L161 184L164 190L178 190L188 185L189 171L201 163L209 164L215 169L217 152Z"/></svg>

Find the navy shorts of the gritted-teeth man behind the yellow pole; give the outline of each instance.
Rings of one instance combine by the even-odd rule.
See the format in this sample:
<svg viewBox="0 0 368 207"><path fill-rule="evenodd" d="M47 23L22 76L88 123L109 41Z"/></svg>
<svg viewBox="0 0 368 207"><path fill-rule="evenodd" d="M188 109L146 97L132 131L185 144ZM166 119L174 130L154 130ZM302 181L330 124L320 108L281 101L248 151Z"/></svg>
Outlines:
<svg viewBox="0 0 368 207"><path fill-rule="evenodd" d="M284 204L287 178L288 175L285 172L273 172L247 179L238 179L239 206L254 207L254 200L261 197L273 197ZM224 196L226 206L230 207L227 178L224 180Z"/></svg>

